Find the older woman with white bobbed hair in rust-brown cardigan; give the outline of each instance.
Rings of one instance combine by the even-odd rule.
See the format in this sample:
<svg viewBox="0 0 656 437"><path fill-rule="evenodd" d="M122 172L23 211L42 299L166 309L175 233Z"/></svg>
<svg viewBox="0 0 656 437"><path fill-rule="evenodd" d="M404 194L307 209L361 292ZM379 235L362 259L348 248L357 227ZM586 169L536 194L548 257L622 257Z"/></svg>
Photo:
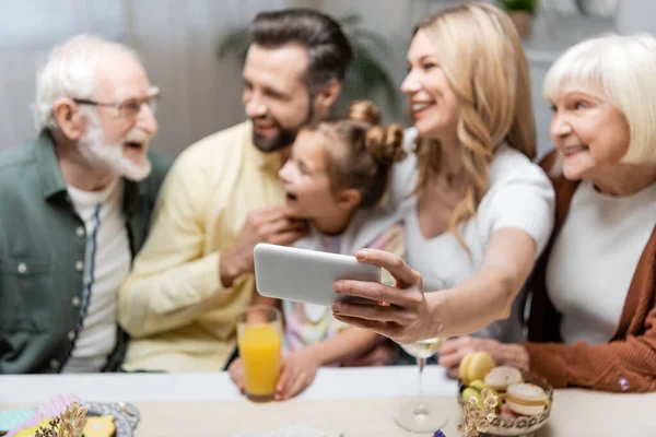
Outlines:
<svg viewBox="0 0 656 437"><path fill-rule="evenodd" d="M530 342L462 338L554 387L656 391L656 39L605 36L550 69L557 223L531 283ZM452 371L454 371L452 370Z"/></svg>

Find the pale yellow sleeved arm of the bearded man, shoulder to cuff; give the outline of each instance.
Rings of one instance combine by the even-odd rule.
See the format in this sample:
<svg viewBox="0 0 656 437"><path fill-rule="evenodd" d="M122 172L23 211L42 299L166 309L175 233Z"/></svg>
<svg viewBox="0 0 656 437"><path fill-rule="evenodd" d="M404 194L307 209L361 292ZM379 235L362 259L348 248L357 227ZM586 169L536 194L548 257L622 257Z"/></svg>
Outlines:
<svg viewBox="0 0 656 437"><path fill-rule="evenodd" d="M181 155L162 187L149 238L118 295L118 319L132 336L184 326L225 290L220 253L203 256L206 202L202 167Z"/></svg>

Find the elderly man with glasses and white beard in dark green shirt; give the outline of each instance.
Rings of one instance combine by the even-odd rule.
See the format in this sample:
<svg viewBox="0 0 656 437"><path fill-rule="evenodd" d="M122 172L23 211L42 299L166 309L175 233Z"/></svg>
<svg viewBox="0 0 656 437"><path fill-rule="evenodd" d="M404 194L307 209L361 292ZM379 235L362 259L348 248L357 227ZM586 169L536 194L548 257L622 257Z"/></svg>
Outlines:
<svg viewBox="0 0 656 437"><path fill-rule="evenodd" d="M0 374L118 368L117 290L171 161L129 48L73 37L38 74L37 140L0 153Z"/></svg>

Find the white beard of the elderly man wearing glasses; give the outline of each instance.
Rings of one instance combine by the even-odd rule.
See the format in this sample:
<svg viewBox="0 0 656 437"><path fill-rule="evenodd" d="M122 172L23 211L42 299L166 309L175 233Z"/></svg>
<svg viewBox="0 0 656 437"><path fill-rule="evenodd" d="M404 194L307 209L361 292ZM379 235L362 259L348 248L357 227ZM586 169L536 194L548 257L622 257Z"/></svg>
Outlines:
<svg viewBox="0 0 656 437"><path fill-rule="evenodd" d="M133 162L124 155L122 142L118 144L103 143L103 128L96 114L86 114L86 132L78 141L78 151L87 164L133 181L143 180L150 175L152 164L148 156L144 155L139 163ZM126 134L124 141L141 142L148 150L149 139L148 133L133 128Z"/></svg>

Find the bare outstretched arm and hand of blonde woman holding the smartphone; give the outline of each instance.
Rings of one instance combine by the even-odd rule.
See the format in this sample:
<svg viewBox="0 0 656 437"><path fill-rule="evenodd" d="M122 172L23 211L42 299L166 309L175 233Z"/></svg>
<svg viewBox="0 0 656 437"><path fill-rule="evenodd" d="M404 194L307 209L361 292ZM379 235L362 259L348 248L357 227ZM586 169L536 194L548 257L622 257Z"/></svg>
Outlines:
<svg viewBox="0 0 656 437"><path fill-rule="evenodd" d="M454 288L426 294L421 275L401 258L379 250L361 250L356 258L387 269L397 281L396 287L338 281L335 291L390 305L341 302L332 306L333 315L401 343L476 332L508 317L515 296L530 274L536 250L534 239L525 232L499 229L490 238L479 273Z"/></svg>

